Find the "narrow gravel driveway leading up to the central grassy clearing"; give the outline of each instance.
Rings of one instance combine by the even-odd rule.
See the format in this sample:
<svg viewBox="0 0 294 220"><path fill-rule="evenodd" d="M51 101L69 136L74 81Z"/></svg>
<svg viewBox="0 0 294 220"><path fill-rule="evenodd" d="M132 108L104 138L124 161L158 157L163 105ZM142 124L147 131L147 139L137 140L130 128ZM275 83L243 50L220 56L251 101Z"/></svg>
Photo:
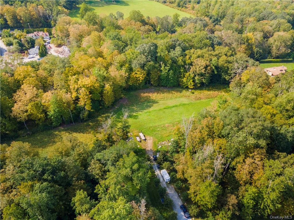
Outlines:
<svg viewBox="0 0 294 220"><path fill-rule="evenodd" d="M146 152L152 158L153 150L152 150L153 140L152 137L146 137ZM152 159L153 161L153 159ZM162 187L166 188L166 194L173 200L173 210L178 214L178 220L186 220L182 210L180 209L180 205L183 204L178 193L176 192L175 188L170 185L166 184L163 177L161 176L160 170L156 167L156 163L153 161L153 169L155 171L156 176L160 180L160 184Z"/></svg>

